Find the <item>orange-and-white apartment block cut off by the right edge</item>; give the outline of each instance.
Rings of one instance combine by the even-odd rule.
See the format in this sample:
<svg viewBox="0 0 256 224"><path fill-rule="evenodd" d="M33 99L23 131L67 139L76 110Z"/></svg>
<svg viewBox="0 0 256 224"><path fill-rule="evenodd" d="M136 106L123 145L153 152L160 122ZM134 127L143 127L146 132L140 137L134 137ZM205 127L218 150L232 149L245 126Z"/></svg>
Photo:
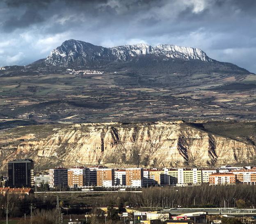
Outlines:
<svg viewBox="0 0 256 224"><path fill-rule="evenodd" d="M236 182L256 185L256 169L235 169L230 172L235 174Z"/></svg>

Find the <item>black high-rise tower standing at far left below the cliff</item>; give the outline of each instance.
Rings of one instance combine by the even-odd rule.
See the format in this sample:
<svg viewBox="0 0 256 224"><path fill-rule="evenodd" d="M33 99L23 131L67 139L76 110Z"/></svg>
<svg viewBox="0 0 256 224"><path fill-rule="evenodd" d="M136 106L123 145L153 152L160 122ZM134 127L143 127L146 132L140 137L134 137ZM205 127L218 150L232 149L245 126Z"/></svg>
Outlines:
<svg viewBox="0 0 256 224"><path fill-rule="evenodd" d="M13 160L8 162L9 187L30 187L34 179L33 160Z"/></svg>

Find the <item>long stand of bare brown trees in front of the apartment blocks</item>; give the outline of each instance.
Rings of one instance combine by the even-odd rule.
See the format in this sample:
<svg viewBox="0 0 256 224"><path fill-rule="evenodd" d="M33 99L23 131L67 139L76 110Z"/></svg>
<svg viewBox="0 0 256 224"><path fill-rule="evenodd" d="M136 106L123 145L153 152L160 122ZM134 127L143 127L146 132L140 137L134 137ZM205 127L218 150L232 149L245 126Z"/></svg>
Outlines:
<svg viewBox="0 0 256 224"><path fill-rule="evenodd" d="M102 206L118 206L120 201L133 207L177 208L181 207L256 207L255 185L150 187L142 193L107 194L101 199Z"/></svg>

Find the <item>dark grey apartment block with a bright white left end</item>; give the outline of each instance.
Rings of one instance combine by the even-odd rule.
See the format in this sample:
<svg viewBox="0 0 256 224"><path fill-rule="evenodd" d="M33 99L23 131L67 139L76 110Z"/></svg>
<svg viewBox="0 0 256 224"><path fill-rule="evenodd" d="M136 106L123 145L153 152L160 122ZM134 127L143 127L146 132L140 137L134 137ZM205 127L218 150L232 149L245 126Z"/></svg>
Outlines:
<svg viewBox="0 0 256 224"><path fill-rule="evenodd" d="M68 169L57 167L49 169L49 187L68 186Z"/></svg>

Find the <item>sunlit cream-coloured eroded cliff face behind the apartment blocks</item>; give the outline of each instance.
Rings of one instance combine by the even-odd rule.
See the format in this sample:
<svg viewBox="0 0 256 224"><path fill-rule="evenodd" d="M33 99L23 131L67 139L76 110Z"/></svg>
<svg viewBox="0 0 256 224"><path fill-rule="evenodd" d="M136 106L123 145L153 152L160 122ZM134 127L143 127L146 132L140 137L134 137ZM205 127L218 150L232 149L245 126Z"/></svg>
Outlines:
<svg viewBox="0 0 256 224"><path fill-rule="evenodd" d="M206 167L250 162L255 151L253 144L212 135L183 122L101 123L55 128L45 138L8 144L2 147L1 158L6 165L10 159L27 155L44 168L56 164Z"/></svg>

